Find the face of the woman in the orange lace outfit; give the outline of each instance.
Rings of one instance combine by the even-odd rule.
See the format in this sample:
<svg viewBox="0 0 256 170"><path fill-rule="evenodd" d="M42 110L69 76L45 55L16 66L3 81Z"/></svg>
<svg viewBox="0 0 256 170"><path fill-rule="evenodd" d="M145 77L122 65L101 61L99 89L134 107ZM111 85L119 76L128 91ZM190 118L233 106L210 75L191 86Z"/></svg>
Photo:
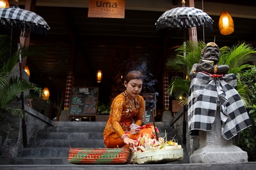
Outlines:
<svg viewBox="0 0 256 170"><path fill-rule="evenodd" d="M142 89L143 81L140 79L132 79L128 83L124 81L124 86L126 87L126 92L129 98L136 97L140 94Z"/></svg>

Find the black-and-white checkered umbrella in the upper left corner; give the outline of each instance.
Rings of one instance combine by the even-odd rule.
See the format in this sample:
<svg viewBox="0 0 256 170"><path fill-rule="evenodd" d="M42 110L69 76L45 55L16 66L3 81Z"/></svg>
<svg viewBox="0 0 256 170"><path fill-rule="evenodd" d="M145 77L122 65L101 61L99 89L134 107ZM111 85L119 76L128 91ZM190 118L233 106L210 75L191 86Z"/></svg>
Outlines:
<svg viewBox="0 0 256 170"><path fill-rule="evenodd" d="M44 18L19 7L0 8L0 27L36 34L46 34L50 29Z"/></svg>

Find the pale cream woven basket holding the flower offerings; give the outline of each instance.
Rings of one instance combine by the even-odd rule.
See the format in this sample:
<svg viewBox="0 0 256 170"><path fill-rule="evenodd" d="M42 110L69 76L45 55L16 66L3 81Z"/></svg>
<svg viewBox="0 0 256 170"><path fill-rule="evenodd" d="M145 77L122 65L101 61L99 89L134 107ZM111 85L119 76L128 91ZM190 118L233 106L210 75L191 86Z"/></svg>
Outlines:
<svg viewBox="0 0 256 170"><path fill-rule="evenodd" d="M182 148L170 148L134 153L132 157L134 164L155 164L182 160L184 153Z"/></svg>

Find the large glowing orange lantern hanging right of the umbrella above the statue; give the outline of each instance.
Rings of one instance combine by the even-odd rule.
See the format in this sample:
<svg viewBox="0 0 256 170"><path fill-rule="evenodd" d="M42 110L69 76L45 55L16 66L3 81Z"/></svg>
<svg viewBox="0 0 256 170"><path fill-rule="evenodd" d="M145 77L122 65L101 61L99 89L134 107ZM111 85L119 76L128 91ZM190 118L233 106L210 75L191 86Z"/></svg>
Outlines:
<svg viewBox="0 0 256 170"><path fill-rule="evenodd" d="M219 20L219 29L220 33L223 35L229 35L234 32L234 22L231 15L228 11L221 11L220 20Z"/></svg>

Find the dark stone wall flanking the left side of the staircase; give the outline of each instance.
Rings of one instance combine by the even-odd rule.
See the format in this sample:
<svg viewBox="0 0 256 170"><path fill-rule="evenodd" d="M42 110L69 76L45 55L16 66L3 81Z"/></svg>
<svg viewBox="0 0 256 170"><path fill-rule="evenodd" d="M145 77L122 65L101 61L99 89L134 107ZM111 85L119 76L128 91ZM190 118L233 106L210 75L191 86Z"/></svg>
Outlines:
<svg viewBox="0 0 256 170"><path fill-rule="evenodd" d="M26 136L29 145L30 139L35 137L38 131L45 129L49 125L53 125L53 121L45 117L41 113L29 108L25 105L26 115ZM22 118L6 115L0 124L0 155L1 158L19 156L20 148L24 147ZM4 160L4 159L3 159Z"/></svg>

